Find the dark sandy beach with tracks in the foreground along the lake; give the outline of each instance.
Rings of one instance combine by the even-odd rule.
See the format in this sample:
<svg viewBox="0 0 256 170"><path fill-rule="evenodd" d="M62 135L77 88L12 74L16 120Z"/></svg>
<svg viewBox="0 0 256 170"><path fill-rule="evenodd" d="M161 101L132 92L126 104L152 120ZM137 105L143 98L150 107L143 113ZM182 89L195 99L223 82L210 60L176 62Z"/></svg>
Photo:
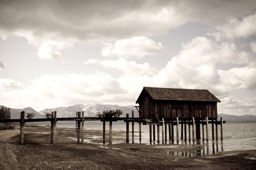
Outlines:
<svg viewBox="0 0 256 170"><path fill-rule="evenodd" d="M77 144L74 129L58 128L50 144L49 127L0 131L1 170L255 170L256 150L194 155L200 145ZM95 131L95 134L100 132ZM174 153L184 153L175 155Z"/></svg>

